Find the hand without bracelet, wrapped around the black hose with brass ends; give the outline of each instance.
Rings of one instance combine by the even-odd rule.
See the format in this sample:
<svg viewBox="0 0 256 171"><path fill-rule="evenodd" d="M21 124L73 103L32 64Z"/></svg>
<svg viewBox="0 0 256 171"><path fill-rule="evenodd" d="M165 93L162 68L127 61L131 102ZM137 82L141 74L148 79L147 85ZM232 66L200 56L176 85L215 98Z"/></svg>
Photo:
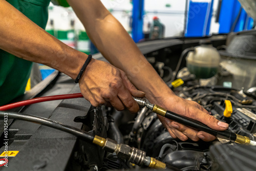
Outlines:
<svg viewBox="0 0 256 171"><path fill-rule="evenodd" d="M170 95L169 98L165 98L161 103L162 104L159 105L162 105L163 108L191 119L198 120L209 126L211 129L224 131L228 127L227 123L221 122L214 116L209 115L208 112L195 101L185 100L173 94ZM173 138L179 138L182 141L185 141L188 138L193 141L198 141L199 138L204 141L212 141L216 139L213 135L202 131L198 132L183 124L164 118L163 116L158 115L158 118Z"/></svg>

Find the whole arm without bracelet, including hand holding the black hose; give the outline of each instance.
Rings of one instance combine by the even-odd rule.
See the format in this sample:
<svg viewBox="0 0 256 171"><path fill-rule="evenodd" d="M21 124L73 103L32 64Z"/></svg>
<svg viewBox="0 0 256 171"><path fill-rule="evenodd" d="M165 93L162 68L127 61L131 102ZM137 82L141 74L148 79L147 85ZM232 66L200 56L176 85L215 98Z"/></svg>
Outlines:
<svg viewBox="0 0 256 171"><path fill-rule="evenodd" d="M141 54L130 35L99 0L68 0L68 2L103 56L114 66L123 70L134 85L145 92L146 97L152 103L180 115L199 120L212 129L220 131L227 129L227 124L210 116L201 105L177 97L166 86ZM177 122L162 117L159 119L174 138L178 137L181 140L190 138L195 141L199 140L199 137L205 141L215 139L214 136L197 132Z"/></svg>

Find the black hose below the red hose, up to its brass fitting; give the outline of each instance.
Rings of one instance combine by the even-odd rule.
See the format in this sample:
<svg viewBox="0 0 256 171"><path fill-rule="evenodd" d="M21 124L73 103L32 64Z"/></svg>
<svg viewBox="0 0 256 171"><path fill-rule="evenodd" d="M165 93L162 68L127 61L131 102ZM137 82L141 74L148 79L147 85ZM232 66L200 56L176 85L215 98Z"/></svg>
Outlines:
<svg viewBox="0 0 256 171"><path fill-rule="evenodd" d="M25 120L25 121L34 122L34 123L38 123L38 124L41 124L41 125L49 126L49 127L54 128L54 129L73 134L73 135L75 135L77 137L80 137L81 139L89 141L89 142L93 142L93 139L94 139L93 135L91 135L91 134L89 134L85 131L79 130L76 127L65 125L63 123L59 123L59 122L56 122L54 120L39 117L39 116L33 116L33 115L28 115L28 114L24 114L24 113L17 113L17 112L0 111L0 118L5 118L6 113L7 113L8 119Z"/></svg>

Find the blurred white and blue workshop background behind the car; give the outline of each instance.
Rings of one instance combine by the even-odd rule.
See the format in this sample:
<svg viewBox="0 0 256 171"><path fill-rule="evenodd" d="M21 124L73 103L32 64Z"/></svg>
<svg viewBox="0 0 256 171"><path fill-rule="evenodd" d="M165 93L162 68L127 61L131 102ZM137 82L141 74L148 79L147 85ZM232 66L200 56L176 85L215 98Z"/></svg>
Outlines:
<svg viewBox="0 0 256 171"><path fill-rule="evenodd" d="M250 30L254 26L253 19L238 0L102 0L102 3L135 42L168 37L203 37ZM98 52L71 7L51 3L46 31L81 52ZM41 77L36 76L36 82L54 71L44 65L39 65L39 69ZM29 88L30 85L27 90Z"/></svg>

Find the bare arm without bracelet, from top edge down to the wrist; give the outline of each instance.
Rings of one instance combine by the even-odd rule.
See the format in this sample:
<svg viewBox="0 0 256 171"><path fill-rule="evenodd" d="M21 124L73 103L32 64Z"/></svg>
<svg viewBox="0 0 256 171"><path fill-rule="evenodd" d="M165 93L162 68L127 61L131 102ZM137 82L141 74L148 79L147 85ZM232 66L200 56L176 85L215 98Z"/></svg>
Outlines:
<svg viewBox="0 0 256 171"><path fill-rule="evenodd" d="M148 99L157 98L164 92L172 93L141 54L130 35L116 18L102 7L102 4L97 5L98 11L101 12L97 13L93 10L95 2L90 3L92 4L90 9L84 9L86 8L84 1L70 0L69 3L103 56L123 70L133 84L146 93Z"/></svg>

